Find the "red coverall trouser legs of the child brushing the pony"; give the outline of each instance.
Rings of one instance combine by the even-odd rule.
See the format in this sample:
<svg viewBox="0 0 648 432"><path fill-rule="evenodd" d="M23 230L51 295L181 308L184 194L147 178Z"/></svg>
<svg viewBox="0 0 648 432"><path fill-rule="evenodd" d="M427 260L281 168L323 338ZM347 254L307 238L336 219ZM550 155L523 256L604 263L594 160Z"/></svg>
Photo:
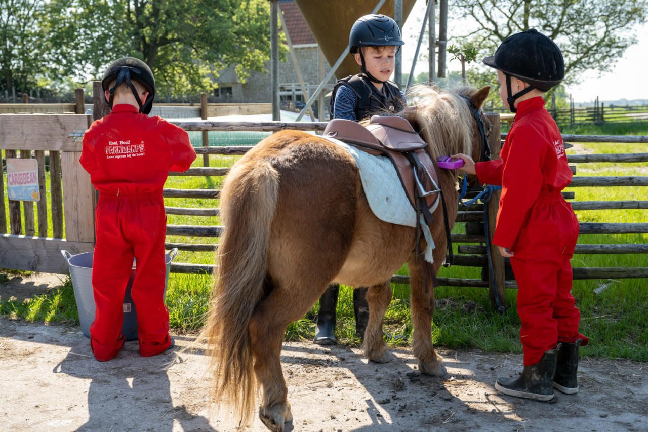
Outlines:
<svg viewBox="0 0 648 432"><path fill-rule="evenodd" d="M518 283L517 308L524 365L535 365L560 342L574 342L581 313L572 296L572 258L578 221L559 195L543 194L513 246L511 267Z"/></svg>

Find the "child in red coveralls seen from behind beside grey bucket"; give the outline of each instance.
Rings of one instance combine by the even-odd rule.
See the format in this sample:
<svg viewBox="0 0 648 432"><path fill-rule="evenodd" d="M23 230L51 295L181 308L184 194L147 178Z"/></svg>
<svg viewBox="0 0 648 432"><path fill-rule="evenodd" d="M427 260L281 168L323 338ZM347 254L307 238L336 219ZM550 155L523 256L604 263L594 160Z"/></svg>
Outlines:
<svg viewBox="0 0 648 432"><path fill-rule="evenodd" d="M97 309L90 346L98 361L108 361L124 345L122 302L133 257L139 354L148 357L173 346L164 304L167 215L162 187L168 171L189 169L196 152L187 132L148 117L155 80L144 62L120 58L101 84L112 111L84 134L80 163L99 191L92 270Z"/></svg>

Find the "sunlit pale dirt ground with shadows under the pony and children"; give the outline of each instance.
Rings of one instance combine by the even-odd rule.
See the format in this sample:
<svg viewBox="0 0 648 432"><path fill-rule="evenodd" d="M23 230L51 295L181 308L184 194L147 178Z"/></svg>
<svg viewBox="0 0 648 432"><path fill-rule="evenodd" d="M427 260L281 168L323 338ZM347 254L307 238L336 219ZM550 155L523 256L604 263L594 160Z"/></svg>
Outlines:
<svg viewBox="0 0 648 432"><path fill-rule="evenodd" d="M1 429L236 430L227 409L209 407L202 352L176 357L194 339L175 338L172 352L140 357L132 341L100 363L78 328L0 318ZM358 348L285 343L286 431L648 431L647 363L582 357L580 392L542 403L493 388L521 370L522 355L441 349L448 374L434 378L418 373L408 348L393 352L377 365ZM250 430L267 429L255 416Z"/></svg>

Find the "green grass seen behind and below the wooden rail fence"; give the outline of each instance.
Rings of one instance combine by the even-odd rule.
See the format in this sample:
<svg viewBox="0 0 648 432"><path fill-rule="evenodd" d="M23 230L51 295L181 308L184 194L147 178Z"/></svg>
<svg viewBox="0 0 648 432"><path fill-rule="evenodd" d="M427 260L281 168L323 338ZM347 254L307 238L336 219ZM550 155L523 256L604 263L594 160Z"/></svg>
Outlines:
<svg viewBox="0 0 648 432"><path fill-rule="evenodd" d="M648 135L648 123L578 126L563 129L566 134L588 135ZM648 152L646 144L579 144L568 154ZM231 166L237 156L211 156L211 166ZM198 158L194 166L202 165ZM581 176L648 176L648 163L583 163L577 165ZM166 187L181 189L218 189L222 178L170 177ZM6 182L5 182L6 184ZM574 187L575 200L646 200L647 187ZM168 198L167 206L218 207L218 200ZM577 211L581 222L648 222L647 210ZM218 225L218 217L189 217L168 215L169 224ZM461 233L463 224L456 224L453 232ZM215 239L169 237L168 241L182 243L211 243ZM579 243L648 243L648 235L581 235ZM456 246L455 246L456 247ZM213 263L209 252L180 252L177 262ZM648 254L575 255L573 267L648 267ZM401 269L400 274L406 274ZM480 278L480 269L470 267L442 268L439 276L452 278ZM5 276L6 277L6 276ZM0 274L0 278L2 275ZM573 294L581 309L581 332L590 337L584 355L623 357L648 361L648 289L646 280L575 280ZM172 274L168 283L167 305L170 324L179 331L200 329L207 310L211 276ZM594 290L597 291L594 291ZM598 294L597 294L598 292ZM394 335L410 335L410 307L408 285L393 285L393 300L385 318L386 331ZM507 290L506 311L498 315L483 288L438 287L435 290L435 310L432 338L435 344L448 348L481 348L492 352L521 352L518 339L520 321L515 310L515 290ZM74 322L76 306L71 284L67 283L49 294L30 302L16 304L0 298L0 313L26 320ZM310 340L314 335L313 319L316 304L307 315L291 324L286 339ZM338 302L336 335L342 343L358 344L353 338L353 301L350 287L341 287ZM391 342L398 343L398 342Z"/></svg>

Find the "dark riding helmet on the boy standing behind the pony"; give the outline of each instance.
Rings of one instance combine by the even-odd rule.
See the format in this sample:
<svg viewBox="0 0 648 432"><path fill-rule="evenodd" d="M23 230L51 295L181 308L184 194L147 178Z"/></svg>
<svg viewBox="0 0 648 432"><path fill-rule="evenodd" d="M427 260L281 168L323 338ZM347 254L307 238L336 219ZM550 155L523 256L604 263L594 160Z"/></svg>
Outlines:
<svg viewBox="0 0 648 432"><path fill-rule="evenodd" d="M349 32L349 53L360 53L362 60L362 73L370 81L383 82L373 77L365 67L364 54L360 47L386 47L405 45L396 21L382 14L369 14L361 16L353 23Z"/></svg>

